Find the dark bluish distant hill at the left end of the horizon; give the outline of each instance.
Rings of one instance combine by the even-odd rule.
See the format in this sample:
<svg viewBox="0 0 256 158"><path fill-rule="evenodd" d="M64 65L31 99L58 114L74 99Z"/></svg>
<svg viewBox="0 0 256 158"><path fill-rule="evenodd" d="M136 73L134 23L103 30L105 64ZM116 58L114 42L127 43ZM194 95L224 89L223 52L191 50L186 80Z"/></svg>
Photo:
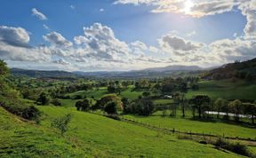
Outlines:
<svg viewBox="0 0 256 158"><path fill-rule="evenodd" d="M70 78L76 77L76 74L66 72L66 71L43 71L43 70L28 70L28 69L20 69L20 68L11 68L12 75L24 75L35 78Z"/></svg>

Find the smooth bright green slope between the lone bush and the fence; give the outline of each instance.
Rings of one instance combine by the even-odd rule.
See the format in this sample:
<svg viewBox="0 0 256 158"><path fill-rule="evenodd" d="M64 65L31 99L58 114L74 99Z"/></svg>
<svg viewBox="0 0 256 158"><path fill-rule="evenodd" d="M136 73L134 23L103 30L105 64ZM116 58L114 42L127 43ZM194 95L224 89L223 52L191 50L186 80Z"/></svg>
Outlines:
<svg viewBox="0 0 256 158"><path fill-rule="evenodd" d="M140 126L118 122L99 115L76 112L74 108L39 107L46 115L44 127L58 115L72 112L72 122L66 137L76 137L80 146L92 146L102 151L100 156L113 157L237 157L174 136L159 134ZM71 110L72 109L72 110Z"/></svg>

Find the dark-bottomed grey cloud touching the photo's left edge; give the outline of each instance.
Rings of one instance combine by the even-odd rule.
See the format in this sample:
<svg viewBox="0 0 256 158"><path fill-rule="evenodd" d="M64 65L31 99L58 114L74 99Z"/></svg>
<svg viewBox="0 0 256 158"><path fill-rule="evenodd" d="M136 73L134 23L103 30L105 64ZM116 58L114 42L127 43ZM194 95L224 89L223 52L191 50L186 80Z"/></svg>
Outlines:
<svg viewBox="0 0 256 158"><path fill-rule="evenodd" d="M29 35L24 28L0 26L0 41L13 46L28 47Z"/></svg>

